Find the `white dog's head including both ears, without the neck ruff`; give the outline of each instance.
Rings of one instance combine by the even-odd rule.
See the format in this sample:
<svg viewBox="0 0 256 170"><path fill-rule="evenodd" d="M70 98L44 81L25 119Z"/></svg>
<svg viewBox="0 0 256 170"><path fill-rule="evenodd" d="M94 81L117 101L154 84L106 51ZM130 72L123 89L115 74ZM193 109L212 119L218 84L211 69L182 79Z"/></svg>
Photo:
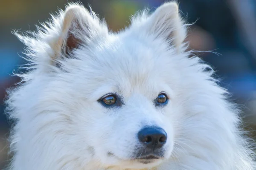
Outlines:
<svg viewBox="0 0 256 170"><path fill-rule="evenodd" d="M50 140L65 153L104 167L146 168L170 158L186 56L176 3L143 11L117 34L71 4L38 37L20 39L33 47L31 84L40 92L31 105L46 116L38 130L49 128L42 140L53 131Z"/></svg>

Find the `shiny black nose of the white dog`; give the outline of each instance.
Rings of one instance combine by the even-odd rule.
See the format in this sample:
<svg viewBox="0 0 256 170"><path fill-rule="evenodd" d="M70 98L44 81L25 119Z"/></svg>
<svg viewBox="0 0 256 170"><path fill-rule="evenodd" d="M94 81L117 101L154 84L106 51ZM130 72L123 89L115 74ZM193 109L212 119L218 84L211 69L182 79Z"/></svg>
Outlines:
<svg viewBox="0 0 256 170"><path fill-rule="evenodd" d="M160 127L144 127L139 131L138 137L140 142L150 149L162 147L167 140L166 132Z"/></svg>

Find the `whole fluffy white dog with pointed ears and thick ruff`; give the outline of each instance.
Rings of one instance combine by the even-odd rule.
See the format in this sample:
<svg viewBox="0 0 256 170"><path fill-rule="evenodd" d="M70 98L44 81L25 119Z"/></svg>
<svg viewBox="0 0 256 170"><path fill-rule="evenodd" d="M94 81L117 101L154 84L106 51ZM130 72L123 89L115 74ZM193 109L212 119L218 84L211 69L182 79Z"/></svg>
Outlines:
<svg viewBox="0 0 256 170"><path fill-rule="evenodd" d="M11 170L255 170L238 110L189 57L174 2L119 33L69 4L16 35L29 61L9 91Z"/></svg>

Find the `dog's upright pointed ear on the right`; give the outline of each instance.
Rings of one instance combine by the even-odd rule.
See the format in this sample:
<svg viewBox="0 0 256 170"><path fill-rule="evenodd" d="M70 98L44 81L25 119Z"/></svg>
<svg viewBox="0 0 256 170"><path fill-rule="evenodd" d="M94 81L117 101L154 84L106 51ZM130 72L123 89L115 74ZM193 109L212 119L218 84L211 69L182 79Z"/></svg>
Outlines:
<svg viewBox="0 0 256 170"><path fill-rule="evenodd" d="M140 25L147 35L162 38L177 48L178 51L180 50L182 42L186 38L186 26L180 18L177 3L164 3L149 17L145 18L145 14L141 17L142 19L135 19L135 22L142 22ZM139 29L141 30L141 28Z"/></svg>

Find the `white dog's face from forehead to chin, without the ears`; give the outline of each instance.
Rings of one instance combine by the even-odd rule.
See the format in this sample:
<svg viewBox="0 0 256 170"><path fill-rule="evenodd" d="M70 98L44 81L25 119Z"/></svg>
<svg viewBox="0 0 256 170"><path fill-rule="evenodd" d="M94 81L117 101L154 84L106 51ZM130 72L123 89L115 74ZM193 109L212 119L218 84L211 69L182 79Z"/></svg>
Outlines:
<svg viewBox="0 0 256 170"><path fill-rule="evenodd" d="M81 61L73 61L70 87L76 89L73 98L81 98L76 99L74 128L79 142L103 164L152 167L172 153L175 94L170 85L177 79L169 73L177 71L169 68L173 64L166 52L131 36L93 49L93 60L77 50Z"/></svg>

